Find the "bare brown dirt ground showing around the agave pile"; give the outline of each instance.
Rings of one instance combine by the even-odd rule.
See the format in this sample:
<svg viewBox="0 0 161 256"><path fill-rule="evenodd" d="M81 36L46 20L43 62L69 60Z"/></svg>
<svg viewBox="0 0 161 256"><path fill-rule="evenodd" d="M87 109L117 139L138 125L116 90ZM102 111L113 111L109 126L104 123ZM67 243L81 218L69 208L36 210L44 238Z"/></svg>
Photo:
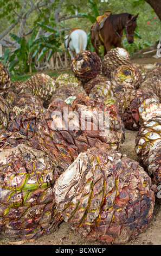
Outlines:
<svg viewBox="0 0 161 256"><path fill-rule="evenodd" d="M132 60L133 63L138 64L154 64L161 62L161 58L154 59L137 58ZM121 145L120 151L122 154L126 154L130 159L138 161L138 157L134 152L134 140L137 132L126 130L126 139L123 145ZM136 239L126 243L126 245L161 245L161 204L156 201L154 206L154 212L149 227L137 236ZM0 245L100 245L98 242L87 241L82 238L79 233L72 230L68 223L61 223L58 230L49 235L43 235L37 240L24 241L21 239L10 239L0 234Z"/></svg>

